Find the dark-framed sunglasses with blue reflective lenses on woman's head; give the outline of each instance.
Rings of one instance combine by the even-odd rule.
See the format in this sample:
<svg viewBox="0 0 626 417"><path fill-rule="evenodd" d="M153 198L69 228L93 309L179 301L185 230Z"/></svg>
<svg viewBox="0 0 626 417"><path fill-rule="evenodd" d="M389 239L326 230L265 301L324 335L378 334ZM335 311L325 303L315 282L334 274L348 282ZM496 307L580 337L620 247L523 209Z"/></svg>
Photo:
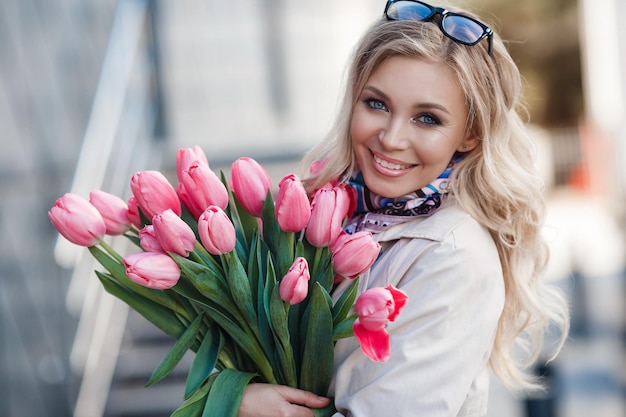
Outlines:
<svg viewBox="0 0 626 417"><path fill-rule="evenodd" d="M493 49L493 30L478 20L464 14L449 12L441 7L417 0L388 0L385 17L388 20L417 20L427 22L435 15L441 15L439 29L448 38L463 45L476 45L487 37L488 53Z"/></svg>

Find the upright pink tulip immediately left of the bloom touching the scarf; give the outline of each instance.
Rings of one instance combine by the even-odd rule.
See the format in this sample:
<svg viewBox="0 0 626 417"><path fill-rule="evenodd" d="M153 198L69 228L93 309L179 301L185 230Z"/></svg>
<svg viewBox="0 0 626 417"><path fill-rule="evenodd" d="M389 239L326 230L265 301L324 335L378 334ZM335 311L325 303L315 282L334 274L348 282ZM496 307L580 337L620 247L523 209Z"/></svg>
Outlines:
<svg viewBox="0 0 626 417"><path fill-rule="evenodd" d="M274 214L280 228L285 232L299 232L311 218L311 203L295 174L285 176L278 184Z"/></svg>

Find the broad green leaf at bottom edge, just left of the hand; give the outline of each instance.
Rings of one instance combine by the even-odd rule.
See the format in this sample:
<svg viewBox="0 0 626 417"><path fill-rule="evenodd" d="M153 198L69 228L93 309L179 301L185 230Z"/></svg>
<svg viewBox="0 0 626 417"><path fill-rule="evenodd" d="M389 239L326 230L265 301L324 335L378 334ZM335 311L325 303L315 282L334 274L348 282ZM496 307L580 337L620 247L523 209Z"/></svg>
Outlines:
<svg viewBox="0 0 626 417"><path fill-rule="evenodd" d="M237 417L243 391L254 374L224 369L215 378L202 417Z"/></svg>

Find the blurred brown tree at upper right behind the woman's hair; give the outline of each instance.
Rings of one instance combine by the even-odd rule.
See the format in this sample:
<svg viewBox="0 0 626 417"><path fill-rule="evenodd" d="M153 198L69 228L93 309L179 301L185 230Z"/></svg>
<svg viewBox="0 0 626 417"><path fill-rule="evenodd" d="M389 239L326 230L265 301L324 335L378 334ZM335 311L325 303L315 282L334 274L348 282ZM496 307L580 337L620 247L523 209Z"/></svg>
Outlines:
<svg viewBox="0 0 626 417"><path fill-rule="evenodd" d="M578 2L480 0L480 14L507 42L524 78L534 123L576 125L583 114Z"/></svg>

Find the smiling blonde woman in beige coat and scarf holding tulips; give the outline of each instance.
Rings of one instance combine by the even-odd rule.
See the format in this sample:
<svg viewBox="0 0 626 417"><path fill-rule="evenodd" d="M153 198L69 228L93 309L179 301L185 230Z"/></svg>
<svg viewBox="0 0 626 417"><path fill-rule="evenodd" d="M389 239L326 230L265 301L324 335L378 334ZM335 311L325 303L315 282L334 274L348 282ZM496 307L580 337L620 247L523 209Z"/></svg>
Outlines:
<svg viewBox="0 0 626 417"><path fill-rule="evenodd" d="M315 173L306 181L354 188L346 230L382 246L360 290L391 284L409 302L387 328L388 361L337 343L336 417L484 416L490 368L511 388L540 386L528 369L544 332L556 324L562 344L569 321L542 282L544 197L519 94L503 42L466 11L389 0L357 45L335 128L303 161ZM239 415L312 416L328 401L251 384Z"/></svg>

